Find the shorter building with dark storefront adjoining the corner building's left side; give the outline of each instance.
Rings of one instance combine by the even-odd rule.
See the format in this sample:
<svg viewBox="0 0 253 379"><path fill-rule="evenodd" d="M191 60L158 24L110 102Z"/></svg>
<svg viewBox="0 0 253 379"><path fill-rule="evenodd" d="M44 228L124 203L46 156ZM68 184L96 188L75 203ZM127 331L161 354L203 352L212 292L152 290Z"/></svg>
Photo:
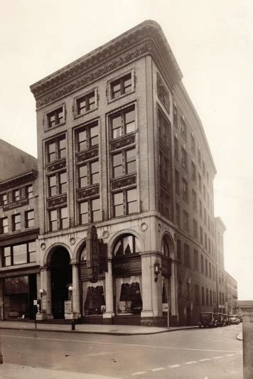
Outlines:
<svg viewBox="0 0 253 379"><path fill-rule="evenodd" d="M0 318L32 319L40 277L37 160L1 140L0 161Z"/></svg>

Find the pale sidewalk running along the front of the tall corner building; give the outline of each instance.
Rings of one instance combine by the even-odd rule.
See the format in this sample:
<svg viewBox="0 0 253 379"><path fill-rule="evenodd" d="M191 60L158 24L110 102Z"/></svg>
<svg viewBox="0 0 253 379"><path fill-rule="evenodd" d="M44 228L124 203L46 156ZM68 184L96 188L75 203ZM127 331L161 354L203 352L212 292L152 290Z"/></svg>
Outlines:
<svg viewBox="0 0 253 379"><path fill-rule="evenodd" d="M136 326L136 325L99 325L99 324L76 324L75 331L71 330L70 324L37 324L34 322L22 321L0 321L0 329L22 329L37 331L61 331L66 333L92 333L92 334L113 334L115 336L130 336L140 334L157 334L183 329L196 329L198 326L177 326L160 328L157 326Z"/></svg>

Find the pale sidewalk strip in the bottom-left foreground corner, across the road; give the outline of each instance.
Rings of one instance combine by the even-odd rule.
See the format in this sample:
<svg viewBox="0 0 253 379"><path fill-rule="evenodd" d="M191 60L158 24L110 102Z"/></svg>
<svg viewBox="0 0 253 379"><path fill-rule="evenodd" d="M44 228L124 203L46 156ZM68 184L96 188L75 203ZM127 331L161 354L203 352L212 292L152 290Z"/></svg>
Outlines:
<svg viewBox="0 0 253 379"><path fill-rule="evenodd" d="M68 371L50 370L48 368L30 367L4 363L0 365L0 379L115 379L112 376L71 373Z"/></svg>

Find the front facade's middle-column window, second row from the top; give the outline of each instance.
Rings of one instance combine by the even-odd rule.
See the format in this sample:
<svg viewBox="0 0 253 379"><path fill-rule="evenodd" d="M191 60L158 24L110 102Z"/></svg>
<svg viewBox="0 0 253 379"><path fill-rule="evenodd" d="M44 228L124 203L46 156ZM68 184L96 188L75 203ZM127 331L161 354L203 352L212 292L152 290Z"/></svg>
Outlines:
<svg viewBox="0 0 253 379"><path fill-rule="evenodd" d="M98 123L87 125L77 130L77 151L90 149L99 143Z"/></svg>

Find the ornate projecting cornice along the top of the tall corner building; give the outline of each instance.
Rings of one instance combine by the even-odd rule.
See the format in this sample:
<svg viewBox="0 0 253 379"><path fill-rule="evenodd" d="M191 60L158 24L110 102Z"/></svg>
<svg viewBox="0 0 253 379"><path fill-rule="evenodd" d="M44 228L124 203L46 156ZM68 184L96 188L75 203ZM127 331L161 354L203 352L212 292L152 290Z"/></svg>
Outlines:
<svg viewBox="0 0 253 379"><path fill-rule="evenodd" d="M151 55L168 85L181 80L182 73L158 23L144 21L130 31L75 60L31 85L37 109L102 78L131 61Z"/></svg>

